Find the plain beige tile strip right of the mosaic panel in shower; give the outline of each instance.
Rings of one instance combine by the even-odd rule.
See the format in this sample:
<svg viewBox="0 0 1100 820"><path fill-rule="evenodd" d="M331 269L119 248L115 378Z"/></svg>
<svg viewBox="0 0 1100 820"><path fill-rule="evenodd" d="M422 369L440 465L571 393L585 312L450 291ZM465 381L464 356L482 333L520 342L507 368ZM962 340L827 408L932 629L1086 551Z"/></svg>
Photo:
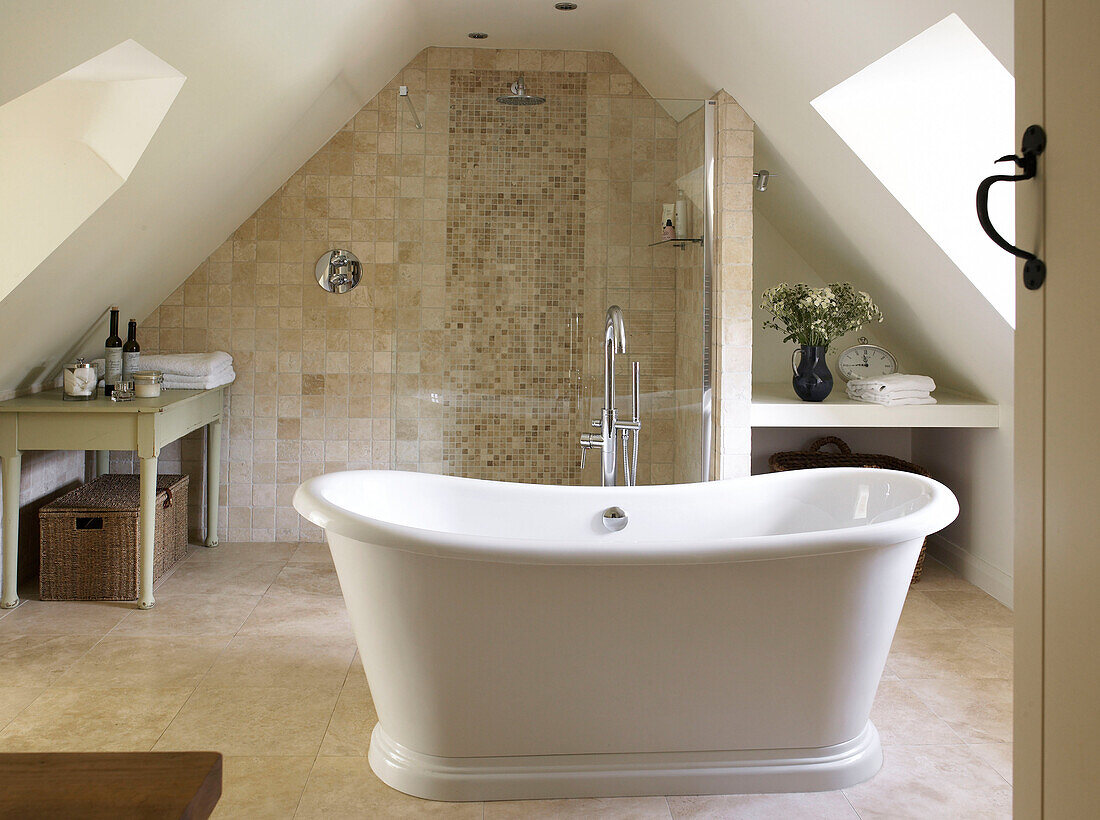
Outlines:
<svg viewBox="0 0 1100 820"><path fill-rule="evenodd" d="M641 365L642 429L638 482L673 480L676 250L650 248L660 238L661 204L675 199L675 121L609 54L590 55L587 196L585 211L584 346L586 414L566 442L576 458L579 431L603 405L606 310L623 308L627 352L616 389L620 416L630 412L629 362ZM600 459L582 480L598 483Z"/></svg>

